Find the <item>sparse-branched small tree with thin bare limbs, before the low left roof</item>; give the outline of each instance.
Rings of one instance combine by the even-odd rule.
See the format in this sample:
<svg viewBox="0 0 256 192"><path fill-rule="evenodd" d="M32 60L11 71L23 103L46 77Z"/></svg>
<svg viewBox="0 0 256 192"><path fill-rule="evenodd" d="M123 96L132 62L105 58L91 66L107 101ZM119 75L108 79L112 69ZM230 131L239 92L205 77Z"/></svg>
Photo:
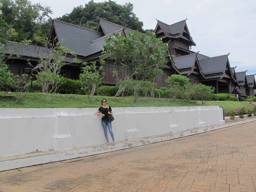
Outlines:
<svg viewBox="0 0 256 192"><path fill-rule="evenodd" d="M31 69L37 73L36 78L43 88L43 92L46 92L46 102L50 103L54 93L60 86L60 72L61 68L69 63L74 63L78 59L76 53L67 47L61 45L64 40L56 42L56 38L53 41L49 41L47 38L40 36L33 36L32 40L25 39L22 41L24 44L31 45L31 47L37 52L39 62L36 66L33 66L30 62ZM33 46L32 43L37 45L43 43L45 47ZM45 50L45 51L42 51Z"/></svg>

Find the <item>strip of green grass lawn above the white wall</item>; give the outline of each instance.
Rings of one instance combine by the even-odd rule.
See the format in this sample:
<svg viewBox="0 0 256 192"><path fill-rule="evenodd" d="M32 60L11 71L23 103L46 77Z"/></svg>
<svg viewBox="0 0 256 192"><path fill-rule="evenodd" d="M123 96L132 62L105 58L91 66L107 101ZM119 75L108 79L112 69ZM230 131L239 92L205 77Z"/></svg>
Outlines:
<svg viewBox="0 0 256 192"><path fill-rule="evenodd" d="M6 93L0 92L0 96ZM150 98L139 97L137 102L133 102L132 96L124 97L105 97L93 96L92 103L89 102L86 95L72 94L55 94L50 104L46 103L45 93L24 93L22 101L16 100L14 92L8 94L14 98L0 97L0 108L83 108L83 107L99 107L102 99L107 99L108 105L111 107L164 107L164 106L201 106L201 101L195 104L193 101L183 101L176 99L171 101L168 98ZM219 105L223 110L240 107L254 107L253 104L238 101L207 101L204 105Z"/></svg>

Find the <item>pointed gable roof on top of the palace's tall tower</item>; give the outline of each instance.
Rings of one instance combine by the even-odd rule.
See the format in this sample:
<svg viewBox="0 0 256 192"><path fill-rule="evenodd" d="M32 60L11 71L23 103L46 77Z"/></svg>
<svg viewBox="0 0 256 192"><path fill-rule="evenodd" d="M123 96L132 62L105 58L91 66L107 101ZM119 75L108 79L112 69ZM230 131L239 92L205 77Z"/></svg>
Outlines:
<svg viewBox="0 0 256 192"><path fill-rule="evenodd" d="M179 21L172 25L168 25L162 21L157 21L155 33L163 32L166 37L183 38L191 42L191 45L196 46L193 38L190 36L186 20Z"/></svg>

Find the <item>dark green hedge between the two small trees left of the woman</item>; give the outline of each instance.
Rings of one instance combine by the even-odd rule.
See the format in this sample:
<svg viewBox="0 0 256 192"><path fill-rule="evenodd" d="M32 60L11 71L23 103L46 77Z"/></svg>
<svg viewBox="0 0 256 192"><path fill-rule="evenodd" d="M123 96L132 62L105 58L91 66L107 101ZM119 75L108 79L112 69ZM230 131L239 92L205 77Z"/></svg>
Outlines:
<svg viewBox="0 0 256 192"><path fill-rule="evenodd" d="M73 80L66 77L60 78L61 85L57 89L56 93L61 94L83 94L82 82L80 80Z"/></svg>

